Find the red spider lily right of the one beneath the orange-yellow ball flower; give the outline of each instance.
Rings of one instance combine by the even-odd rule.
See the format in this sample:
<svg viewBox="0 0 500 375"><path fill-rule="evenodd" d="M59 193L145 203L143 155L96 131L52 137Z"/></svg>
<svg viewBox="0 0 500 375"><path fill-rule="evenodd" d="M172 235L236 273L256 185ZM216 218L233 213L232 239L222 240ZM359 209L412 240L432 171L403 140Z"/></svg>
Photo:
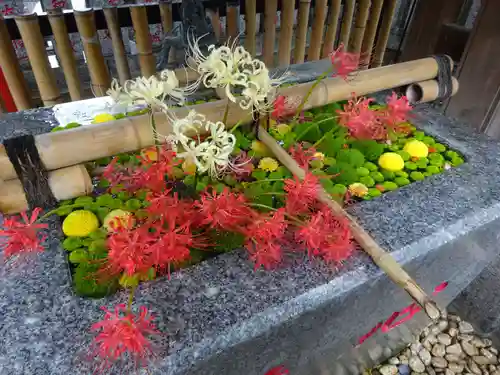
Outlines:
<svg viewBox="0 0 500 375"><path fill-rule="evenodd" d="M147 247L146 253L150 255L151 263L158 269L167 270L169 278L172 266L189 260L191 247L204 246L202 242L195 241L188 225L167 229L156 227L156 233L157 240Z"/></svg>

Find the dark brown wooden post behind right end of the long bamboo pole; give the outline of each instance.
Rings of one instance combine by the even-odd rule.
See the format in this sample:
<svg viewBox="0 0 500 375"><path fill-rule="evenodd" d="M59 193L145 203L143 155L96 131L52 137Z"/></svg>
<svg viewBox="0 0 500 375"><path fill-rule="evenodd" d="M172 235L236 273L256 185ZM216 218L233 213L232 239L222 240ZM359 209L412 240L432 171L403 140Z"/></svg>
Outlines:
<svg viewBox="0 0 500 375"><path fill-rule="evenodd" d="M457 20L463 2L464 0L419 0L399 60L409 61L432 55L441 26Z"/></svg>

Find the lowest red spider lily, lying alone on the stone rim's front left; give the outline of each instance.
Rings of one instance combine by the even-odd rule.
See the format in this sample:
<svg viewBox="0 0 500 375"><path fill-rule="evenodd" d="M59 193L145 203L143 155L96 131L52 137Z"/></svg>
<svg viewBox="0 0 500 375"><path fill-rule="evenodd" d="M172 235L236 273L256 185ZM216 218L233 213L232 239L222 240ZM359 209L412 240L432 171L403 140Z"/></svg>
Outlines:
<svg viewBox="0 0 500 375"><path fill-rule="evenodd" d="M114 311L105 307L104 319L94 323L92 331L99 332L94 338L91 348L92 353L103 360L103 367L109 367L114 362L128 353L136 362L143 362L153 354L149 336L158 335L160 332L152 322L153 316L145 306L135 315L124 304L115 306Z"/></svg>

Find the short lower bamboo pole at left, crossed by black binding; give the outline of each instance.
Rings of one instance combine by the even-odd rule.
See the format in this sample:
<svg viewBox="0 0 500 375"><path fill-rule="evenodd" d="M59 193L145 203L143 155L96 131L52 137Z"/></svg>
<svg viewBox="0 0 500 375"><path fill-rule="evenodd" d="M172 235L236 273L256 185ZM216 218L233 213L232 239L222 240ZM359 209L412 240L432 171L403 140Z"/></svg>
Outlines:
<svg viewBox="0 0 500 375"><path fill-rule="evenodd" d="M49 172L48 182L58 201L72 199L92 192L92 180L83 165ZM0 182L0 212L15 214L28 209L23 185L17 178Z"/></svg>

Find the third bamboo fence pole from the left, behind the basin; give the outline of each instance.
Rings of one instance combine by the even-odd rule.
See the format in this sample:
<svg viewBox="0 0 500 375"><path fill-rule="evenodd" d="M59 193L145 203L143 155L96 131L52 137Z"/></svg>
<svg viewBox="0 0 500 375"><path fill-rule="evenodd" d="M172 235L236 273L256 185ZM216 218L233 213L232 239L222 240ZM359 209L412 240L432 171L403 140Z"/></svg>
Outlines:
<svg viewBox="0 0 500 375"><path fill-rule="evenodd" d="M61 63L64 78L66 78L66 84L68 85L69 96L72 101L81 100L82 87L80 85L80 77L78 77L75 54L69 40L63 11L61 8L55 8L47 11L47 15L56 42L57 57Z"/></svg>

